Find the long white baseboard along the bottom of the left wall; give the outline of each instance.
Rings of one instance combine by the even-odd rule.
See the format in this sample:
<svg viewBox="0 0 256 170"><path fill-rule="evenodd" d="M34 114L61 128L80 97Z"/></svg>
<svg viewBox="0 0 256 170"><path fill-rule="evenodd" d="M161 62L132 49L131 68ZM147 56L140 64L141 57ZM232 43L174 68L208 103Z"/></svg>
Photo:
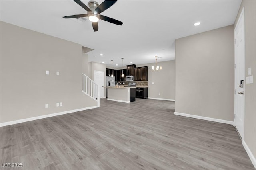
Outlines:
<svg viewBox="0 0 256 170"><path fill-rule="evenodd" d="M59 112L59 113L52 113L52 114L48 114L48 115L30 117L30 118L26 118L26 119L8 121L8 122L0 123L0 127L8 126L8 125L14 125L14 124L17 124L17 123L23 123L23 122L26 122L26 121L44 119L44 118L47 118L47 117L64 115L64 114L68 114L68 113L74 113L74 112L77 112L77 111L84 111L84 110L88 110L88 109L94 109L94 108L97 108L97 107L99 107L99 106L85 107L85 108L82 108L82 109L75 109L75 110L63 111L63 112Z"/></svg>

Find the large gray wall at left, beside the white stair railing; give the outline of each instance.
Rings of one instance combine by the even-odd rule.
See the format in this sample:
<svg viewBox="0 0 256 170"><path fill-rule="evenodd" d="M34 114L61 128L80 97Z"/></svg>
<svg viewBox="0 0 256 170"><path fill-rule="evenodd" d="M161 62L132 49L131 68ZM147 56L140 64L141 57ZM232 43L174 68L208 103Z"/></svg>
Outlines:
<svg viewBox="0 0 256 170"><path fill-rule="evenodd" d="M97 106L81 63L82 45L1 21L1 123Z"/></svg>

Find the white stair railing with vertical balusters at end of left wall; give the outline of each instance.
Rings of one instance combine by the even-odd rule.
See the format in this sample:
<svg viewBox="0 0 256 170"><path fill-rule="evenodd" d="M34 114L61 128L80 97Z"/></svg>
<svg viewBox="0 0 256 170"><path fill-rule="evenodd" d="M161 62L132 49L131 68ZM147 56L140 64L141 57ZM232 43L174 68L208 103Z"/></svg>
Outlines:
<svg viewBox="0 0 256 170"><path fill-rule="evenodd" d="M100 106L100 89L98 84L96 84L92 79L90 79L85 74L83 76L83 87L82 92L88 95L90 98L94 99L98 102L98 106Z"/></svg>

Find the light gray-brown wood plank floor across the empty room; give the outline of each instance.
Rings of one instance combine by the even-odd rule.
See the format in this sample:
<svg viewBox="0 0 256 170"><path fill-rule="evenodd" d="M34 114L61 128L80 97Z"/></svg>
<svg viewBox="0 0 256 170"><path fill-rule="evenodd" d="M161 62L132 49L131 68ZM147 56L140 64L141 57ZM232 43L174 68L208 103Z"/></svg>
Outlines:
<svg viewBox="0 0 256 170"><path fill-rule="evenodd" d="M174 102L100 108L1 127L1 169L254 169L232 125L174 115Z"/></svg>

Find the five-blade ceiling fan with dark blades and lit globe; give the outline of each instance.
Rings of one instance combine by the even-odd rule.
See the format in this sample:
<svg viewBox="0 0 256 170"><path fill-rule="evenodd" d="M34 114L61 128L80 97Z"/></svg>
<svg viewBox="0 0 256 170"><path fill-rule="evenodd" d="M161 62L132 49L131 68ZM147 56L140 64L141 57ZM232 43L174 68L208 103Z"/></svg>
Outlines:
<svg viewBox="0 0 256 170"><path fill-rule="evenodd" d="M121 21L115 20L113 18L103 16L100 13L105 11L106 9L110 8L114 3L116 3L117 0L105 0L100 5L96 1L89 1L88 5L90 8L88 8L82 1L80 0L74 0L78 5L80 5L82 8L84 8L87 11L87 14L78 14L78 15L72 15L72 16L64 16L63 18L80 18L80 17L88 17L90 21L92 21L92 27L94 32L98 31L98 21L104 20L110 23L114 23L116 25L122 25L123 23Z"/></svg>

